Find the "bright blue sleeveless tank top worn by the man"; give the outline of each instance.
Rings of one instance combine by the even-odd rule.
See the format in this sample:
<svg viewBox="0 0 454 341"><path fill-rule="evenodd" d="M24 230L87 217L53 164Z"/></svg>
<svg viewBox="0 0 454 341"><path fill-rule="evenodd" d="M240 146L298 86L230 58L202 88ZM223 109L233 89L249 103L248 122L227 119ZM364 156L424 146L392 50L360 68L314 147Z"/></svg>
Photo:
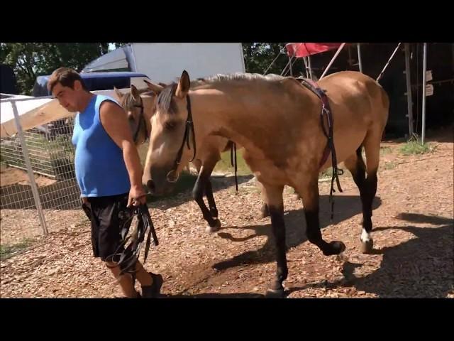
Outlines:
<svg viewBox="0 0 454 341"><path fill-rule="evenodd" d="M107 134L99 118L99 107L104 101L118 104L111 97L94 95L84 112L74 119L74 166L82 197L118 195L131 189L123 151Z"/></svg>

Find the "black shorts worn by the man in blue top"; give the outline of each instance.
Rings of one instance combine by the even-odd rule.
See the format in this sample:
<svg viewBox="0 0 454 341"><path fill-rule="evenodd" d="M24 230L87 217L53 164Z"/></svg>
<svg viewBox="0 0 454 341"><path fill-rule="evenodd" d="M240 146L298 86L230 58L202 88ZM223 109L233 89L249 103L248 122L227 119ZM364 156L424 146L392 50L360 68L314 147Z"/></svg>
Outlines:
<svg viewBox="0 0 454 341"><path fill-rule="evenodd" d="M128 205L128 193L109 197L88 197L89 206L84 211L92 222L93 255L103 261L118 261L121 246L121 229L131 227L132 212ZM88 210L87 210L88 207Z"/></svg>

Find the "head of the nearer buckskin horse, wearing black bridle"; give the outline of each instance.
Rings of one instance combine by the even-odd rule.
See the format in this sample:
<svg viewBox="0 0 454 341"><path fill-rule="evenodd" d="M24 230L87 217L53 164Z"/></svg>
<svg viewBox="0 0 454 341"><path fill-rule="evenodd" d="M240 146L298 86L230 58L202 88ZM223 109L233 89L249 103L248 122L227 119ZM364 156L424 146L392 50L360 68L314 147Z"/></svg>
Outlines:
<svg viewBox="0 0 454 341"><path fill-rule="evenodd" d="M153 131L143 169L143 184L157 195L172 190L173 183L195 151L192 119L190 115L188 117L187 109L189 86L186 71L178 83L165 87L148 83L149 89L157 93L157 98L151 119Z"/></svg>

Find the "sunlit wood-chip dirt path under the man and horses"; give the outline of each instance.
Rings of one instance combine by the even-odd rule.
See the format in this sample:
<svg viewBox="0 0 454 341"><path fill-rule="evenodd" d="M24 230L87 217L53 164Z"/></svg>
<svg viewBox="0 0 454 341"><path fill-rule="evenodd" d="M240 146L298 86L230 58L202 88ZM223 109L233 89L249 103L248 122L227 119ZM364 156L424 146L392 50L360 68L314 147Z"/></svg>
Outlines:
<svg viewBox="0 0 454 341"><path fill-rule="evenodd" d="M329 183L321 183L323 237L345 243L345 259L323 256L306 241L304 212L292 190L284 196L290 298L454 297L453 138L436 151L402 156L399 144L382 144L372 217L375 254L359 251L361 204L348 172L329 222ZM145 264L165 277L170 297L260 297L275 274L270 220L259 219L260 193L243 179L215 178L222 229L205 222L189 193L150 207L160 246ZM224 183L222 183L224 182ZM226 188L226 183L231 187ZM92 258L87 222L38 238L33 249L1 261L1 297L114 297L121 292Z"/></svg>

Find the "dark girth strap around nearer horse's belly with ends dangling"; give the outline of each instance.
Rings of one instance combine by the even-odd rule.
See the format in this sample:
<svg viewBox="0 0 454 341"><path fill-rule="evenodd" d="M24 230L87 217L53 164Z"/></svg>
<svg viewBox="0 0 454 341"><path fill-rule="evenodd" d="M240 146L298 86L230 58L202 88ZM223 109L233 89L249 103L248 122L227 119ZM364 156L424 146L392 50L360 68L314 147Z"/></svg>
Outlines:
<svg viewBox="0 0 454 341"><path fill-rule="evenodd" d="M329 153L331 151L331 158L332 158L332 165L333 165L333 175L331 178L331 190L329 192L329 200L331 202L331 220L333 220L333 212L334 212L334 200L333 200L333 193L336 192L334 190L334 179L336 179L336 185L338 186L339 192L343 192L341 188L341 183L339 182L339 169L338 169L338 161L336 158L336 148L334 148L334 132L333 132L333 115L331 113L331 108L329 107L328 97L326 96L325 90L321 89L316 82L306 79L306 78L299 78L299 81L302 85L307 87L309 90L314 92L321 100L321 129L323 130L323 134L326 136L328 141L326 142L326 147L323 151L323 157L321 158L319 168L323 166L323 163L326 162L328 159ZM326 115L325 115L326 114ZM328 129L325 126L325 120L323 117L326 116L326 121L328 122ZM343 173L341 173L342 175Z"/></svg>

